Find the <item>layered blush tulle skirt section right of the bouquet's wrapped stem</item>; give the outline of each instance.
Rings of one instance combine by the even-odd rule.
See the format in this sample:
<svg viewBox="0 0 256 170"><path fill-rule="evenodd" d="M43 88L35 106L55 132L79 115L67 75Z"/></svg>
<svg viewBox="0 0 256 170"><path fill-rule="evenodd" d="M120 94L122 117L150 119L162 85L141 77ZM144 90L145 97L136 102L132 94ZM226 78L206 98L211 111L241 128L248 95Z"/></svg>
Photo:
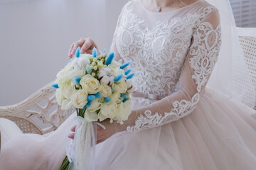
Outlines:
<svg viewBox="0 0 256 170"><path fill-rule="evenodd" d="M158 128L119 132L97 145L97 169L255 169L256 120L210 89L191 115ZM224 96L223 96L224 97ZM146 105L133 98L133 107Z"/></svg>

